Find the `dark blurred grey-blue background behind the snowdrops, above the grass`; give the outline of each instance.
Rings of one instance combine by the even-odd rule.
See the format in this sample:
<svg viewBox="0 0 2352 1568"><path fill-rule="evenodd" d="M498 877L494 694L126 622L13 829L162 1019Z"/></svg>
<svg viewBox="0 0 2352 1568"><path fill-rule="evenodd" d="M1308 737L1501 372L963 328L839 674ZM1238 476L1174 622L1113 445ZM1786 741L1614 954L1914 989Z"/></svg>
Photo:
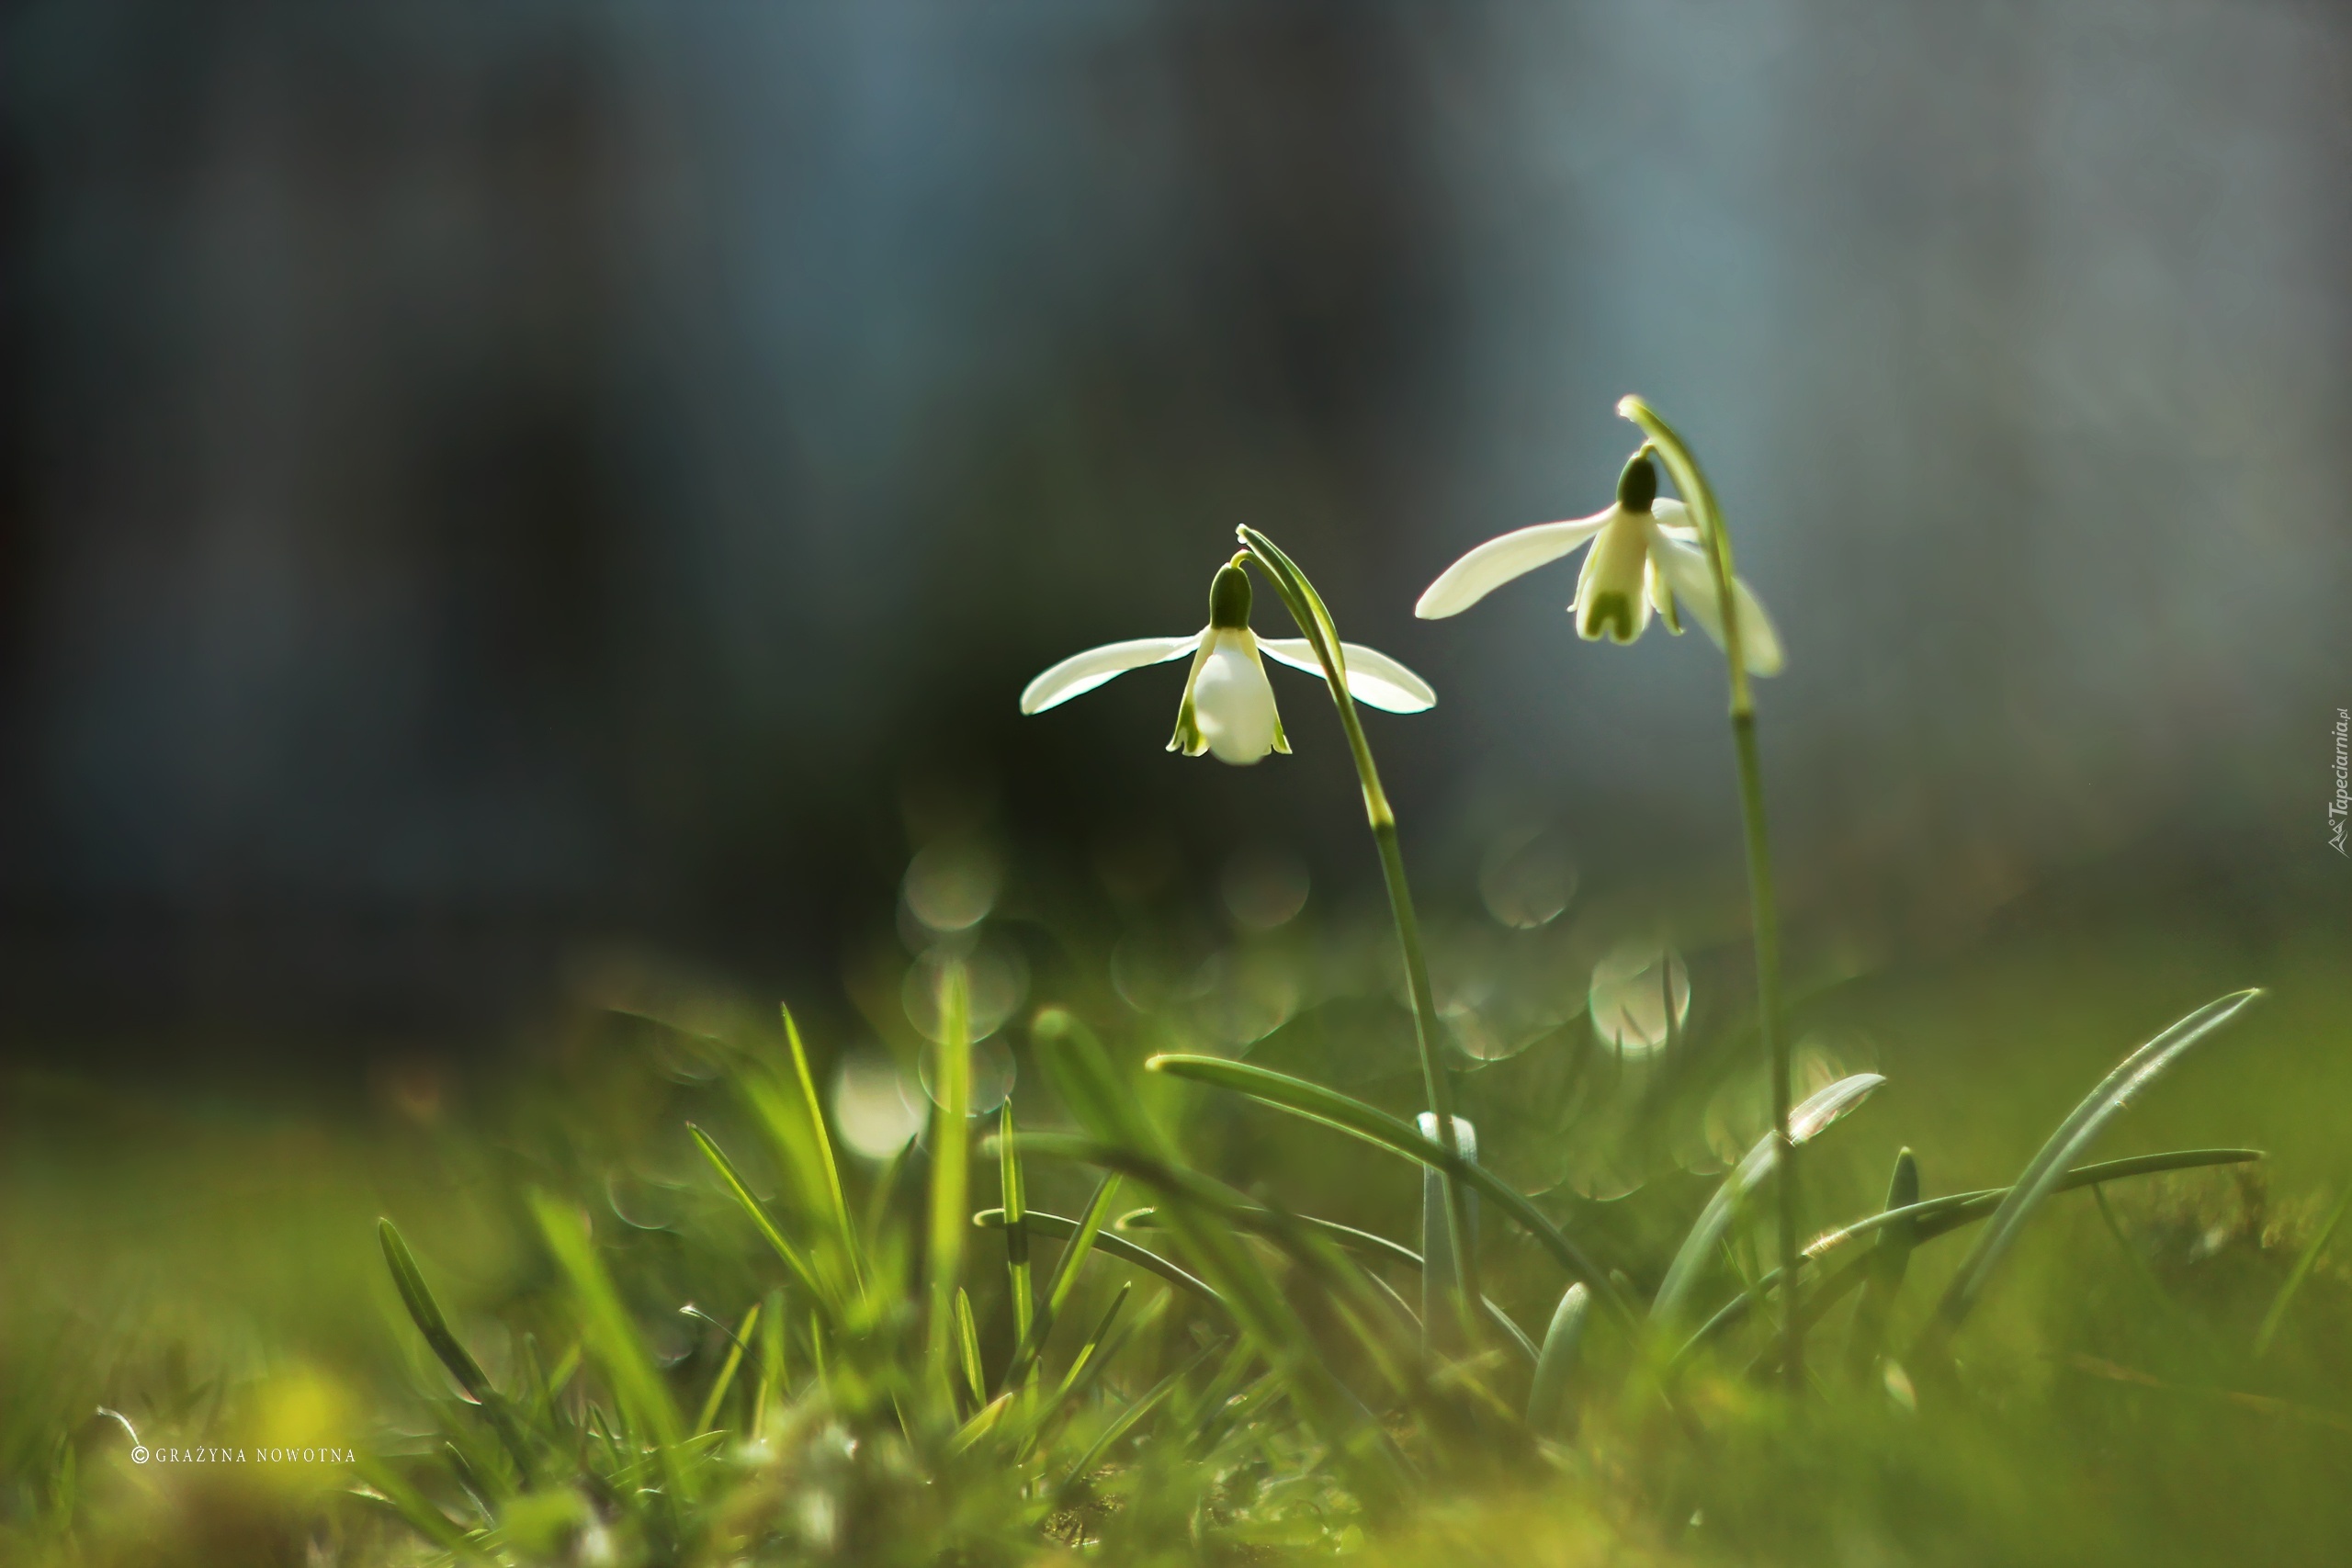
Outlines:
<svg viewBox="0 0 2352 1568"><path fill-rule="evenodd" d="M1251 771L1160 750L1181 665L1014 712L1237 522L1437 684L1371 719L1425 898L1538 825L1736 898L1712 649L1578 644L1573 567L1409 614L1609 498L1625 390L1790 646L1799 947L2343 896L2340 5L0 28L7 1053L492 1041L595 952L826 992L938 835L1345 900L1310 679Z"/></svg>

